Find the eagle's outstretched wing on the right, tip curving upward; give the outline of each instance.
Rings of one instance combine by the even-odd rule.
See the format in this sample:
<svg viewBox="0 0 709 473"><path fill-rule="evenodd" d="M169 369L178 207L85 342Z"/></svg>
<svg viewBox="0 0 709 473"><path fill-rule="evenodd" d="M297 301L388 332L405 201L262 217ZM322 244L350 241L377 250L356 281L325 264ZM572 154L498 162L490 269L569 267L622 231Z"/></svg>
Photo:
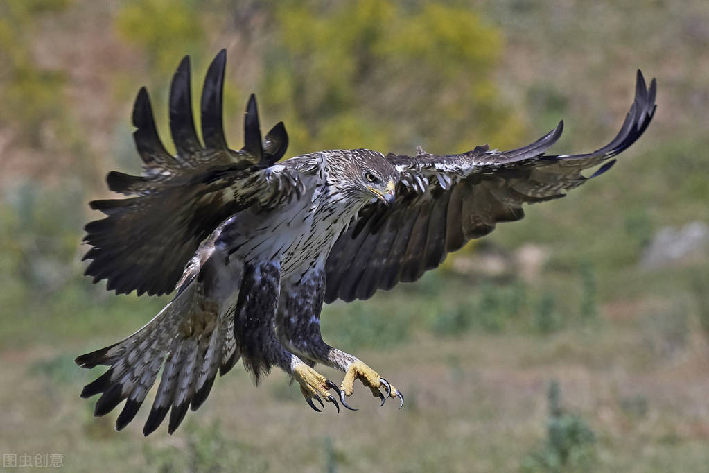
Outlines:
<svg viewBox="0 0 709 473"><path fill-rule="evenodd" d="M401 172L391 207L364 208L337 239L326 263L325 302L368 299L378 289L413 282L440 265L447 253L487 235L498 222L523 218L522 204L563 197L602 174L647 128L655 111L655 80L649 89L637 72L635 102L618 135L584 155L545 155L563 122L531 145L497 152L479 146L462 155L389 156ZM581 171L603 165L590 177ZM367 256L365 256L367 255Z"/></svg>

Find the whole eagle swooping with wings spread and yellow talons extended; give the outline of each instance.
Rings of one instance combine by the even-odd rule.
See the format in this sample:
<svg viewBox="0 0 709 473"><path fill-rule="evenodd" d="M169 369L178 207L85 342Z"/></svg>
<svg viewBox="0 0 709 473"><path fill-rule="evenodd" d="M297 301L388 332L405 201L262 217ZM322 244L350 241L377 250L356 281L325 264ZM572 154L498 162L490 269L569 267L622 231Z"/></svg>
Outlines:
<svg viewBox="0 0 709 473"><path fill-rule="evenodd" d="M192 113L189 57L172 79L169 125L177 155L158 138L150 101L140 89L133 109L140 176L108 174L111 191L128 196L91 202L106 218L86 225L92 260L86 274L117 294L174 299L143 328L77 364L109 369L82 397L101 394L96 416L125 400L121 430L143 404L158 374L143 433L169 411L168 431L187 408L205 401L216 374L238 360L258 382L274 365L300 386L316 411L324 401L346 408L355 379L381 399L403 394L357 357L320 337L320 308L337 299L368 299L413 282L498 222L518 221L523 204L557 199L610 168L642 135L655 111L654 79L637 72L635 101L618 135L594 152L547 155L563 122L534 143L509 151L477 146L458 155L383 155L329 150L279 161L288 136L278 123L262 138L252 95L245 144L228 148L222 124L226 53L206 73L201 139ZM584 169L598 167L590 177ZM344 372L339 386L314 369ZM334 395L333 395L334 394Z"/></svg>

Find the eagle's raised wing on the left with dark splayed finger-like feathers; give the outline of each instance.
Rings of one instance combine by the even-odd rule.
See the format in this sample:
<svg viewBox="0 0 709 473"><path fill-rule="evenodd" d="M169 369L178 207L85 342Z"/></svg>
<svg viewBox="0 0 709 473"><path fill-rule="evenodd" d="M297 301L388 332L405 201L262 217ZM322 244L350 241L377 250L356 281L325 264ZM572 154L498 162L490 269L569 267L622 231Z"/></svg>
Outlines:
<svg viewBox="0 0 709 473"><path fill-rule="evenodd" d="M116 293L165 294L201 240L229 216L259 204L273 206L299 194L302 183L291 169L271 167L288 146L283 123L261 138L256 100L247 105L244 148L227 146L222 125L226 52L211 63L201 97L203 144L192 116L189 57L172 79L169 123L177 156L164 149L155 128L150 100L140 89L133 109L133 137L144 162L140 176L111 172L112 191L130 196L91 202L108 217L86 225L84 242L93 247L86 275L107 279ZM275 170L274 170L275 169Z"/></svg>

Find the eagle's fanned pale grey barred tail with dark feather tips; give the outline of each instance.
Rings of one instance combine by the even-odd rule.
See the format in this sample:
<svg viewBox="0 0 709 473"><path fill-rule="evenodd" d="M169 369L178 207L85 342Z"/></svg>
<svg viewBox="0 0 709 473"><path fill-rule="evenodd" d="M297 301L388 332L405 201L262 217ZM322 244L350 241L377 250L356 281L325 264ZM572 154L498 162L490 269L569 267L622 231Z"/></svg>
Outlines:
<svg viewBox="0 0 709 473"><path fill-rule="evenodd" d="M217 304L209 304L198 286L196 280L189 279L178 296L136 333L77 357L80 367L109 366L84 386L82 397L101 394L96 416L106 415L125 400L116 430L135 418L161 367L160 384L143 428L145 435L157 429L171 410L168 431L174 432L188 408L194 411L206 400L218 369L235 362L238 350L228 342L233 340L233 316L231 321L220 318ZM191 330L184 330L186 326ZM225 330L231 333L227 335Z"/></svg>

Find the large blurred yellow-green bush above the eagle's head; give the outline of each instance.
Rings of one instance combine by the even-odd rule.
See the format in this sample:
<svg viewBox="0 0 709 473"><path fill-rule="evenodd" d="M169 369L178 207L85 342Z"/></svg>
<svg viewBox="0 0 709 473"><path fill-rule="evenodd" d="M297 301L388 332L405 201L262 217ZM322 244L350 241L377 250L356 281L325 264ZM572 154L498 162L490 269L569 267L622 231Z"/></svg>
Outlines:
<svg viewBox="0 0 709 473"><path fill-rule="evenodd" d="M520 131L493 82L501 35L469 9L286 1L275 14L264 97L269 107L289 104L283 116L296 153L411 152L423 138L427 149L452 152L471 149L477 137L508 145ZM445 93L423 93L430 90Z"/></svg>

